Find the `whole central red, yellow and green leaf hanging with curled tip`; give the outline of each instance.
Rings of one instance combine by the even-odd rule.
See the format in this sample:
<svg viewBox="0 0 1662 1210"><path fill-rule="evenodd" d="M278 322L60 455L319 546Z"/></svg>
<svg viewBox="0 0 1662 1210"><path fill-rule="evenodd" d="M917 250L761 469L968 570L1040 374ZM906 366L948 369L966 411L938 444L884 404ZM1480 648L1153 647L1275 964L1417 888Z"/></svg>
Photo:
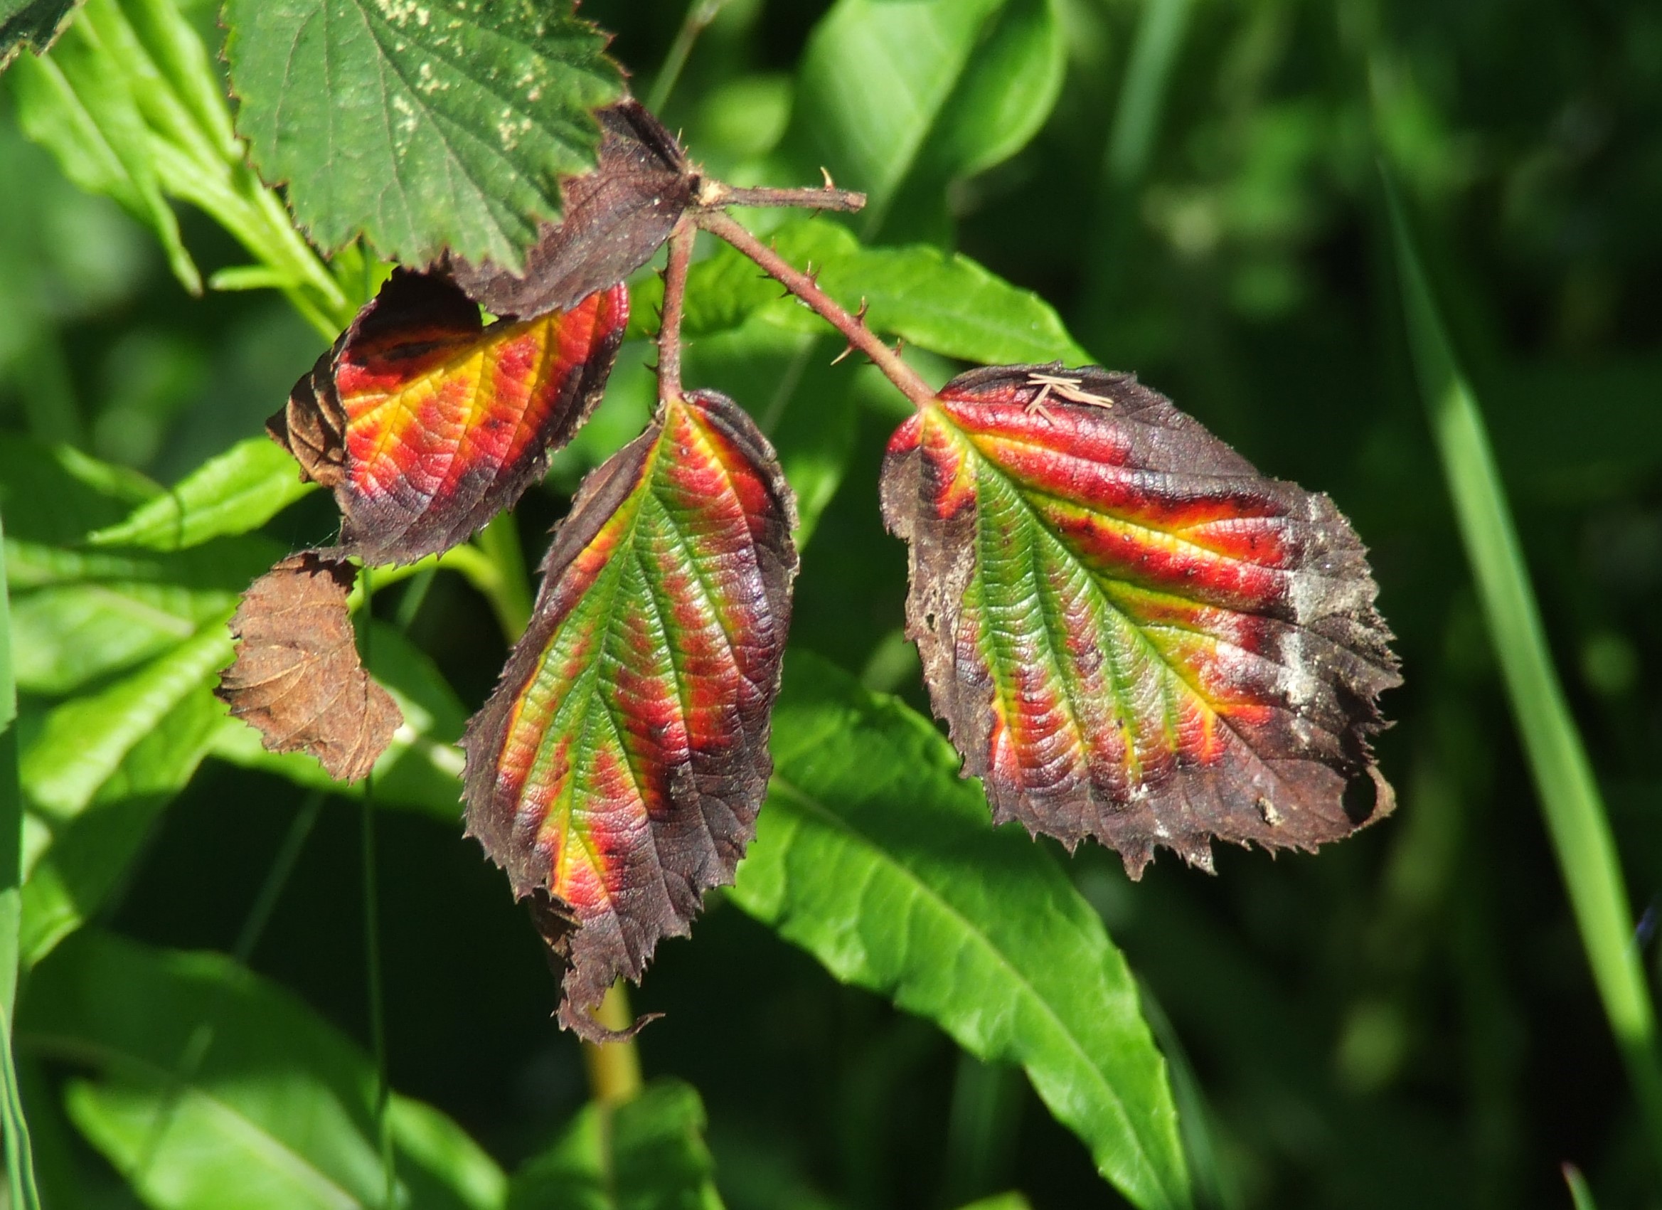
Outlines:
<svg viewBox="0 0 1662 1210"><path fill-rule="evenodd" d="M467 828L532 896L560 1022L733 881L766 789L796 507L730 399L690 392L598 467L555 530L502 681L469 723Z"/></svg>

